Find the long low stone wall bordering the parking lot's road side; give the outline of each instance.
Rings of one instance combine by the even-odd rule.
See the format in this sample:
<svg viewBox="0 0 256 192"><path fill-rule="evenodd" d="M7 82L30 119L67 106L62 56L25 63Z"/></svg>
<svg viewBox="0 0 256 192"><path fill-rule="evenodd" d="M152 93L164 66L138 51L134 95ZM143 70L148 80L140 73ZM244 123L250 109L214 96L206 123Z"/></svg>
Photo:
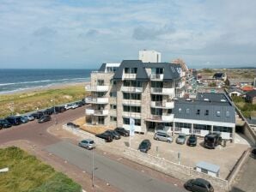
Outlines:
<svg viewBox="0 0 256 192"><path fill-rule="evenodd" d="M209 181L213 185L215 191L227 191L229 189L229 183L227 180L223 180L218 177L211 177L210 175L195 171L192 167L179 165L147 153L141 153L130 147L125 147L124 154L127 159L131 159L138 164L161 171L169 176L179 178L184 182L192 178L200 177Z"/></svg>

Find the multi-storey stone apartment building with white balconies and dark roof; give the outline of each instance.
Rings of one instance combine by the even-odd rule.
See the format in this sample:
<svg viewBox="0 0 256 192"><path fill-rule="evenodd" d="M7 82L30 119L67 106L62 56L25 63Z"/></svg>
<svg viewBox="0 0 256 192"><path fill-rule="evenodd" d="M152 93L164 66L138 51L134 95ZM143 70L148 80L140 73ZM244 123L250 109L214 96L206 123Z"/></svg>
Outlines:
<svg viewBox="0 0 256 192"><path fill-rule="evenodd" d="M185 92L184 75L180 65L172 63L103 63L91 73L87 87L91 92L86 99L91 104L86 109L87 123L129 129L133 118L137 132L172 127L174 98L182 98Z"/></svg>

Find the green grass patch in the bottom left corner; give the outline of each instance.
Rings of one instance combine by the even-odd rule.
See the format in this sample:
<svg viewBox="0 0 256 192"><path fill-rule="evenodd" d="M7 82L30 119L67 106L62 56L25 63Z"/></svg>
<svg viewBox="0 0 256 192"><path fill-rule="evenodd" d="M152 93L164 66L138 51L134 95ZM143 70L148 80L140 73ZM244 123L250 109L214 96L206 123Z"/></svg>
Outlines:
<svg viewBox="0 0 256 192"><path fill-rule="evenodd" d="M0 149L0 191L81 192L81 186L18 147Z"/></svg>

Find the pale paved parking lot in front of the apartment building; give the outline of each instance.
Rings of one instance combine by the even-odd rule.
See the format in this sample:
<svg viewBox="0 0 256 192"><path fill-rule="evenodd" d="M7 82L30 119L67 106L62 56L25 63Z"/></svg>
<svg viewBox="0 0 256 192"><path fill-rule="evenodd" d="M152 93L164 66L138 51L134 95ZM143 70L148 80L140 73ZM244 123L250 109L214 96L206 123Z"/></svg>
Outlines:
<svg viewBox="0 0 256 192"><path fill-rule="evenodd" d="M226 147L218 146L216 149L208 149L203 147L203 138L198 138L196 147L188 147L186 144L176 144L175 138L173 142L168 143L165 141L155 141L153 137L154 133L148 133L146 135L136 134L131 138L131 147L137 149L141 141L149 139L152 144L148 152L149 154L179 163L178 153L180 153L180 165L191 167L195 167L199 161L219 165L220 177L223 179L229 175L235 162L248 148L245 144L227 143ZM113 142L107 143L106 147L128 147L129 142L129 137L121 137L120 140L114 140Z"/></svg>

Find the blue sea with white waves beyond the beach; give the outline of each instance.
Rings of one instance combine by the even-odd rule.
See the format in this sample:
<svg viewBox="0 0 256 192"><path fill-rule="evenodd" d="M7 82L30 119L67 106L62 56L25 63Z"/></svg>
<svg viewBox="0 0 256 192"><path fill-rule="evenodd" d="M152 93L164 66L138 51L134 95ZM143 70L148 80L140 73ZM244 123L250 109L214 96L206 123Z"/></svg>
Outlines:
<svg viewBox="0 0 256 192"><path fill-rule="evenodd" d="M0 94L87 82L94 69L0 69Z"/></svg>

